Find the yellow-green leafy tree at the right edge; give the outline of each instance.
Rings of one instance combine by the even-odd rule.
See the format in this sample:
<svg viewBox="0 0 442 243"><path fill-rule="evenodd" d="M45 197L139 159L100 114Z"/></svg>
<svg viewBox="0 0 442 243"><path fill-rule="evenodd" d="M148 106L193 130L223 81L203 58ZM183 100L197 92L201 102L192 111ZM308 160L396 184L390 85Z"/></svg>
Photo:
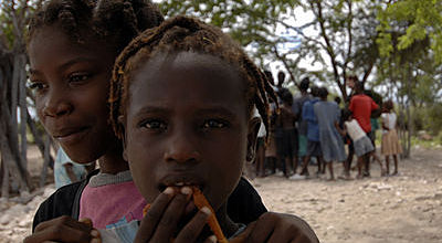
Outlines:
<svg viewBox="0 0 442 243"><path fill-rule="evenodd" d="M402 115L406 157L410 156L415 130L413 110L440 103L442 61L442 2L389 1L378 14L377 43L382 56L379 82L396 91ZM421 113L422 114L422 113Z"/></svg>

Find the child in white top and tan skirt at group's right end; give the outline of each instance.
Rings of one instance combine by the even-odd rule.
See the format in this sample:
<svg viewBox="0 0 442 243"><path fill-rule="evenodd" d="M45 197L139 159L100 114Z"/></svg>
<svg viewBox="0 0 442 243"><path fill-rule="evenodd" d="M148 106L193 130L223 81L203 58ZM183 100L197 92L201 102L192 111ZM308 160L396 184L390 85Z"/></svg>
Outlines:
<svg viewBox="0 0 442 243"><path fill-rule="evenodd" d="M402 154L402 147L399 144L398 133L396 130L397 116L393 112L393 102L387 101L382 107L382 142L381 154L386 157L387 175L390 175L390 156L394 160L394 171L398 175L398 155Z"/></svg>

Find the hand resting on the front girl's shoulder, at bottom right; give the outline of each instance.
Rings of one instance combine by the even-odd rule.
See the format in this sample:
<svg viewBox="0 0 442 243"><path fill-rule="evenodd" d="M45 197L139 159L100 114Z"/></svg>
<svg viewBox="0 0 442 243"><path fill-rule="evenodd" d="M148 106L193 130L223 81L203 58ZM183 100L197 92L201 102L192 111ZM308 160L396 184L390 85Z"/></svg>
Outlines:
<svg viewBox="0 0 442 243"><path fill-rule="evenodd" d="M319 243L315 232L302 219L266 212L230 243Z"/></svg>

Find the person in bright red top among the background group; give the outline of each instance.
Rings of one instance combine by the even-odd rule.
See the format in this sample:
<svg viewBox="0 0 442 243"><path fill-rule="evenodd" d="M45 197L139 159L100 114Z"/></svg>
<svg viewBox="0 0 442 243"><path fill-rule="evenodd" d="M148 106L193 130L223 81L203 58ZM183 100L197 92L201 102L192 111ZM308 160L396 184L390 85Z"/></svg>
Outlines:
<svg viewBox="0 0 442 243"><path fill-rule="evenodd" d="M355 82L355 95L350 99L349 109L352 116L358 122L359 126L366 131L367 136L371 131L370 116L371 113L379 108L370 96L364 94L364 84L361 82ZM370 137L370 136L368 136ZM375 142L371 141L375 146ZM365 173L364 176L370 176L369 158L364 157Z"/></svg>

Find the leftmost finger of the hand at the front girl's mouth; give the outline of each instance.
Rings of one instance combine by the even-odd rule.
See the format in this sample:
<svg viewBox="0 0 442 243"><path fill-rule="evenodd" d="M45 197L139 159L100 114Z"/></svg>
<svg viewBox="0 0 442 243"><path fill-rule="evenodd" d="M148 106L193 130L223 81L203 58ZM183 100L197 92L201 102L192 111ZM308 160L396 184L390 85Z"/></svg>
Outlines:
<svg viewBox="0 0 442 243"><path fill-rule="evenodd" d="M166 188L154 201L150 205L150 209L147 211L147 214L143 218L141 223L139 225L137 235L134 240L136 243L145 243L150 240L155 232L155 228L158 222L162 218L165 210L170 203L171 199L175 196L173 188Z"/></svg>

